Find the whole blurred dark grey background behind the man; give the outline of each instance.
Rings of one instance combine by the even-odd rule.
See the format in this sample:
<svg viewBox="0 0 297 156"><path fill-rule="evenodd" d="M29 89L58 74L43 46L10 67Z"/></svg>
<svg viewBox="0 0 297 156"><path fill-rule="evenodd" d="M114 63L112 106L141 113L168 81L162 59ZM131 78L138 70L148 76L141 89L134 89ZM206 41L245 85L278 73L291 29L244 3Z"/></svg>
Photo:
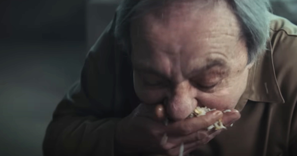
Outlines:
<svg viewBox="0 0 297 156"><path fill-rule="evenodd" d="M0 1L0 156L41 156L56 105L120 0ZM271 0L297 23L297 0Z"/></svg>

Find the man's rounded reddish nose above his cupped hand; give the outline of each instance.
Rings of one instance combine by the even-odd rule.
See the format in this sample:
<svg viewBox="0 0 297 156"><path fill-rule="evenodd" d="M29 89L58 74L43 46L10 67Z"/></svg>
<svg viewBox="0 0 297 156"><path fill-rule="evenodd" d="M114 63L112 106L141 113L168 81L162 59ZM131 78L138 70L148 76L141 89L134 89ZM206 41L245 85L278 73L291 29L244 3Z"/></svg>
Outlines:
<svg viewBox="0 0 297 156"><path fill-rule="evenodd" d="M189 82L181 82L173 88L165 102L169 119L183 120L193 112L197 106L194 91Z"/></svg>

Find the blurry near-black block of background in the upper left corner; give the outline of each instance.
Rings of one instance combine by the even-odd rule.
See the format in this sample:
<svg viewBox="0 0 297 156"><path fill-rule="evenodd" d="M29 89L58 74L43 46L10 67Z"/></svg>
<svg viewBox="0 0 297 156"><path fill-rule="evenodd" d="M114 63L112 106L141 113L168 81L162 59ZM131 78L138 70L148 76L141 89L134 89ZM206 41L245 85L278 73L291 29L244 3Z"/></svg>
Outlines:
<svg viewBox="0 0 297 156"><path fill-rule="evenodd" d="M85 40L85 0L1 0L0 39Z"/></svg>

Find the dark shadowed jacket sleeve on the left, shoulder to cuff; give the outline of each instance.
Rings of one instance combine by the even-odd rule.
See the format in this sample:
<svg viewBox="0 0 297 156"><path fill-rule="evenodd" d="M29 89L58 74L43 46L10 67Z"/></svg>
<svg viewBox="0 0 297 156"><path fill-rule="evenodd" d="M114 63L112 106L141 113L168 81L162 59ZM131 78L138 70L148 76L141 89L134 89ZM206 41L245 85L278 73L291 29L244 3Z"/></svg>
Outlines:
<svg viewBox="0 0 297 156"><path fill-rule="evenodd" d="M114 155L114 132L121 118L114 113L111 34L107 29L98 39L97 52L88 53L80 81L58 104L43 141L45 156Z"/></svg>

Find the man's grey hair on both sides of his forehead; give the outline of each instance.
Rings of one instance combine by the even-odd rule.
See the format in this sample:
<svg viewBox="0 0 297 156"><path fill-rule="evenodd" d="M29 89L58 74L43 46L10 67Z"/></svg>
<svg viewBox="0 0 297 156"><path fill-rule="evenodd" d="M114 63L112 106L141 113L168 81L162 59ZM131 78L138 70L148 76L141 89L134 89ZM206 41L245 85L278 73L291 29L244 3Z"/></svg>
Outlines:
<svg viewBox="0 0 297 156"><path fill-rule="evenodd" d="M122 0L117 8L115 37L127 55L131 53L129 24L133 18L151 9L161 7L169 0ZM177 1L177 0L171 0ZM218 0L208 0L218 1ZM248 64L266 50L269 39L269 0L225 0L236 15L241 26L241 37L248 50Z"/></svg>

